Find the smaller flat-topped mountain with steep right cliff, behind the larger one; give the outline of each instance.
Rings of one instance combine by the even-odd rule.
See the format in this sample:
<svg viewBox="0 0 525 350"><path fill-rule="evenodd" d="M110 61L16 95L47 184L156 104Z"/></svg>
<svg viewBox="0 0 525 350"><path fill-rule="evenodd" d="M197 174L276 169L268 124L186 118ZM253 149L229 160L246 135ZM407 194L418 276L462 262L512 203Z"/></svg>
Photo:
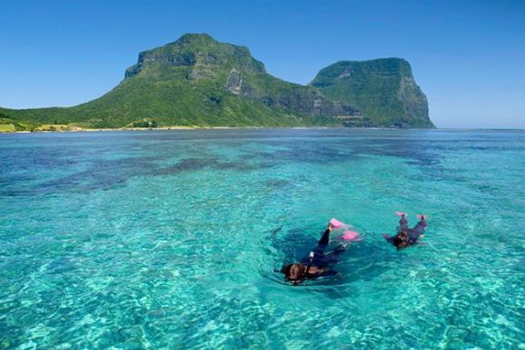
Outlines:
<svg viewBox="0 0 525 350"><path fill-rule="evenodd" d="M322 69L310 85L357 106L374 125L434 128L425 94L403 59L339 61Z"/></svg>

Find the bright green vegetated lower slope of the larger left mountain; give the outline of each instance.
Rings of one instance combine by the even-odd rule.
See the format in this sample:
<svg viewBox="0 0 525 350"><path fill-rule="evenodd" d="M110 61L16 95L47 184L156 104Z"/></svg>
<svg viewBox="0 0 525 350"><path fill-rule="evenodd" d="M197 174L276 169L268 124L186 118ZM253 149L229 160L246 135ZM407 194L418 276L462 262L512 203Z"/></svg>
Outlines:
<svg viewBox="0 0 525 350"><path fill-rule="evenodd" d="M148 74L123 80L100 99L72 108L6 110L10 118L43 124L80 123L92 128L120 128L142 118L159 126L295 126L301 121L283 110L239 99L222 81L186 80L186 67L158 67L163 80ZM225 81L225 78L224 80Z"/></svg>

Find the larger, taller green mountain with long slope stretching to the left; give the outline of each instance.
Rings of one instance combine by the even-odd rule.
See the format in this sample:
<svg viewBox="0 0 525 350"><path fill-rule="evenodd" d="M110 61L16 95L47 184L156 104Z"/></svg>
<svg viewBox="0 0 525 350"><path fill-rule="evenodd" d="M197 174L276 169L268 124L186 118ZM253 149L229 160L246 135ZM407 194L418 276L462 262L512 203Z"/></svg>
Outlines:
<svg viewBox="0 0 525 350"><path fill-rule="evenodd" d="M337 126L360 110L268 74L243 46L185 34L138 55L125 79L72 108L0 109L8 118L83 128ZM146 121L146 122L145 122Z"/></svg>

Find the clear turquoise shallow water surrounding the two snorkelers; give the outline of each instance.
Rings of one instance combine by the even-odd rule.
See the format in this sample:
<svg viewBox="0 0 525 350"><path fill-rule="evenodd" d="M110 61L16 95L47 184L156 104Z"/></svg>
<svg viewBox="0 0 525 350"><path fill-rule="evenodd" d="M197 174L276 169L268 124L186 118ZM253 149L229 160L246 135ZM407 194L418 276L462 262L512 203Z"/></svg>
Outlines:
<svg viewBox="0 0 525 350"><path fill-rule="evenodd" d="M0 135L0 348L523 347L524 170L518 132ZM331 217L341 277L284 284Z"/></svg>

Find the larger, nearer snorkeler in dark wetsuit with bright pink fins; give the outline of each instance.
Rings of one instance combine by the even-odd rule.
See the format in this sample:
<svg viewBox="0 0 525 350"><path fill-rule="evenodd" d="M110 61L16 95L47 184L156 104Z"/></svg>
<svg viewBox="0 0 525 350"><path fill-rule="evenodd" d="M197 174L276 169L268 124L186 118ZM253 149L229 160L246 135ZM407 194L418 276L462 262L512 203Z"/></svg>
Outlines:
<svg viewBox="0 0 525 350"><path fill-rule="evenodd" d="M358 232L350 232L346 230L340 237L341 243L334 251L325 254L325 250L329 245L329 236L332 229L345 228L343 222L332 219L329 222L325 232L320 237L320 240L310 254L304 257L301 262L294 262L282 268L282 273L287 281L294 285L301 284L306 279L319 279L320 277L335 276L337 271L329 269L331 265L339 261L339 256L347 251L349 244L352 241L361 241L358 238Z"/></svg>

